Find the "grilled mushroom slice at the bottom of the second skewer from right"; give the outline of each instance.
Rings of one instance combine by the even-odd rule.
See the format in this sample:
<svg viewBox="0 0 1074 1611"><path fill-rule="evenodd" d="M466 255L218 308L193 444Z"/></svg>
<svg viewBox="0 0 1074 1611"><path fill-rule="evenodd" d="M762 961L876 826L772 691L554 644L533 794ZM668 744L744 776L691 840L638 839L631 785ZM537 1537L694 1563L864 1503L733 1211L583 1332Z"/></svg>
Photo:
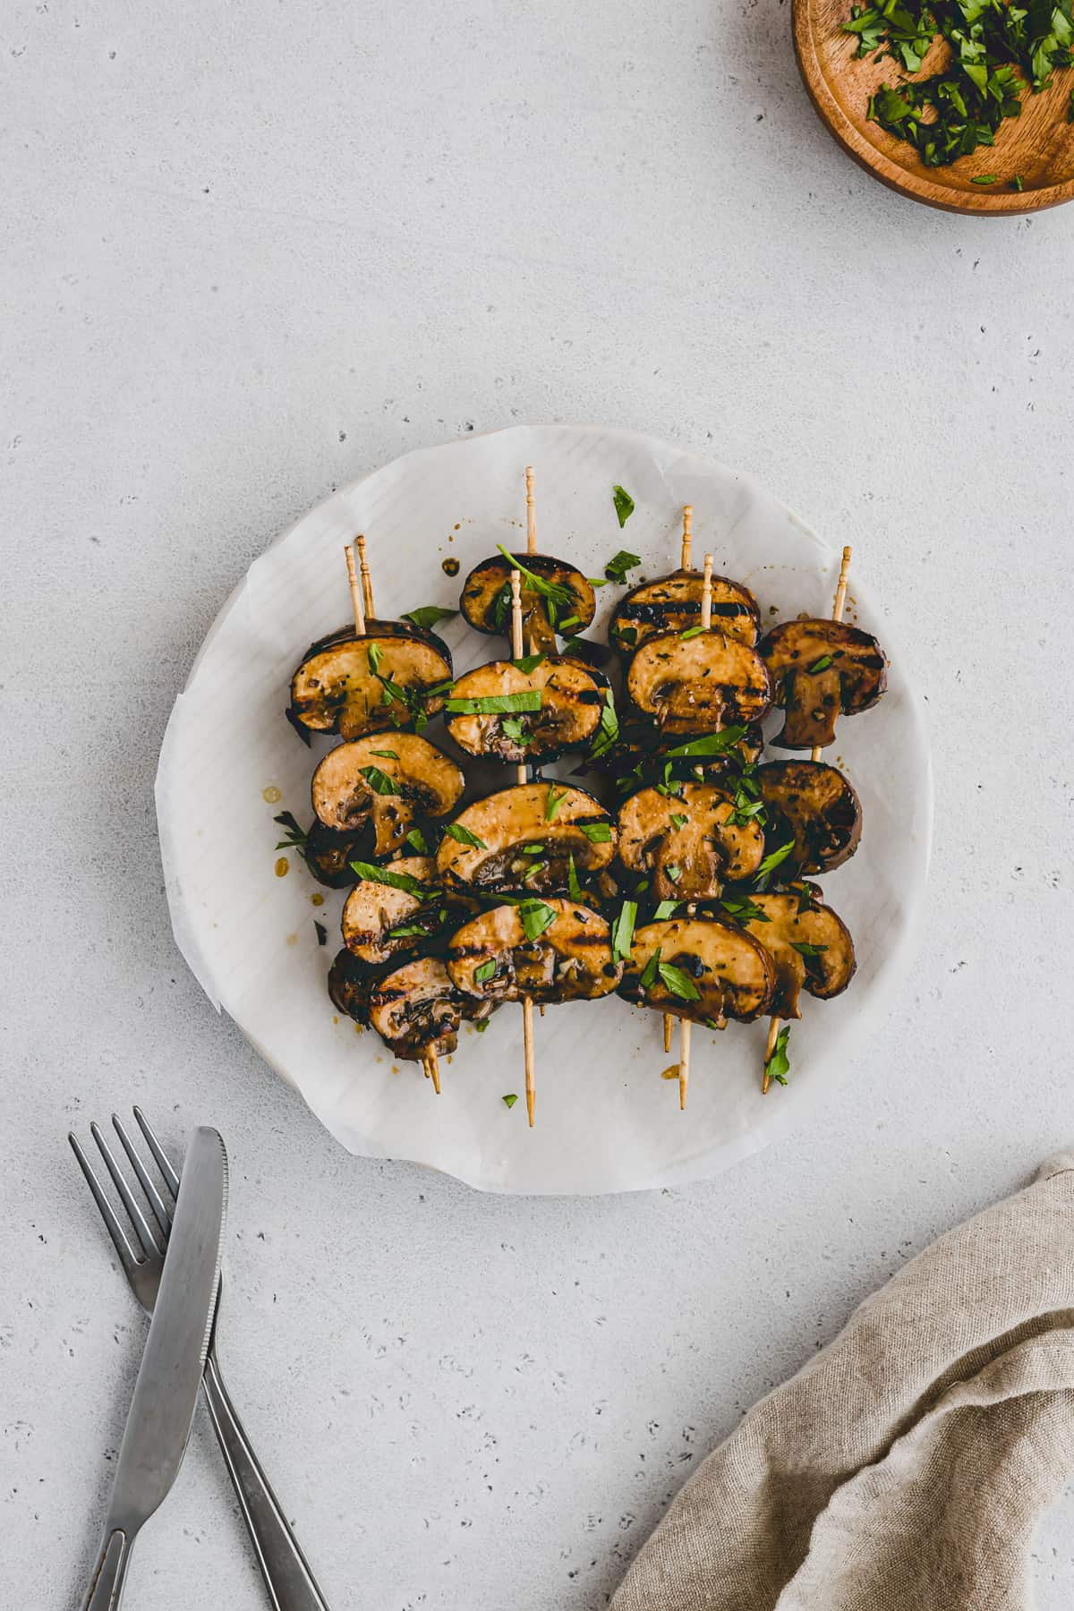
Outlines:
<svg viewBox="0 0 1074 1611"><path fill-rule="evenodd" d="M675 971L668 976L660 968ZM697 991L697 999L680 975ZM723 1026L725 1018L742 1023L758 1018L771 1000L775 978L768 952L744 930L718 918L670 918L634 930L620 996Z"/></svg>

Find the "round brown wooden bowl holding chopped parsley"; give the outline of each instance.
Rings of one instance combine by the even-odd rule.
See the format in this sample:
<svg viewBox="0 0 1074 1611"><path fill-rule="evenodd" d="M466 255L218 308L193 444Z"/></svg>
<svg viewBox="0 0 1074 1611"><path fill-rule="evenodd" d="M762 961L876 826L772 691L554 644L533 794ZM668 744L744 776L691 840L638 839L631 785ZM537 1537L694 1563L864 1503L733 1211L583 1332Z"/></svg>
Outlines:
<svg viewBox="0 0 1074 1611"><path fill-rule="evenodd" d="M1056 72L1050 90L1026 89L1021 118L1008 118L995 145L979 147L950 168L926 168L913 145L866 121L870 95L884 81L895 84L902 69L886 58L857 56L857 37L842 32L850 0L794 0L794 48L810 98L844 151L882 184L915 201L948 213L1035 213L1074 200L1074 124L1066 121L1071 79ZM921 77L942 64L947 45L937 40L921 66ZM974 174L998 174L993 185L976 185ZM1019 174L1024 188L1011 187Z"/></svg>

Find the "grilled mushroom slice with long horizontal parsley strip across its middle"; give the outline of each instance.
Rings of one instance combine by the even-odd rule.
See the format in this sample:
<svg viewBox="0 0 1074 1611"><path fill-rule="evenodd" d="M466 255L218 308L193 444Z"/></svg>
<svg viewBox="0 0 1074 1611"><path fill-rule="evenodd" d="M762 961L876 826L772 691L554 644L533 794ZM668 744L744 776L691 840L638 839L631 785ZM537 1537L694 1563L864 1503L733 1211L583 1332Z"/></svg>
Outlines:
<svg viewBox="0 0 1074 1611"><path fill-rule="evenodd" d="M448 699L446 727L470 756L554 760L589 743L601 725L605 688L607 678L559 656L546 656L528 672L512 661L489 661L457 680ZM459 710L459 706L488 706L518 694L539 696L539 707Z"/></svg>

